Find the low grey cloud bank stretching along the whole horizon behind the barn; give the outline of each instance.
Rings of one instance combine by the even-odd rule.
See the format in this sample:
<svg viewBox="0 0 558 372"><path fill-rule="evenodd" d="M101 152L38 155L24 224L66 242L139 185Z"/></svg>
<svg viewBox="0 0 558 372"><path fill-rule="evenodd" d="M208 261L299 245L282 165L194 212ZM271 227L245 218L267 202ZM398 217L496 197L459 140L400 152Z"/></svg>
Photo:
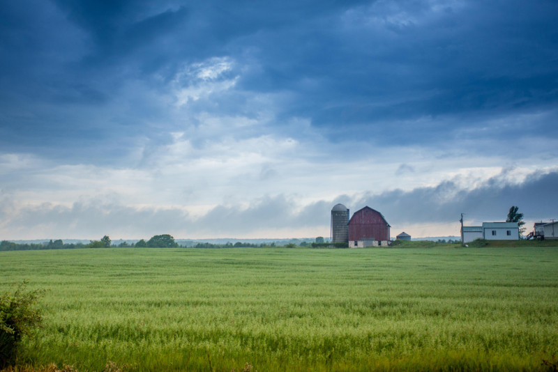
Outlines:
<svg viewBox="0 0 558 372"><path fill-rule="evenodd" d="M202 217L193 217L176 208L132 208L91 200L72 207L42 206L18 208L13 201L0 201L0 226L3 239L10 233L20 235L39 229L51 236L97 236L119 233L136 238L157 233L220 236L257 233L273 229L327 228L331 207L344 203L352 212L370 206L381 211L388 222L425 226L457 222L460 213L476 221L504 221L511 206L519 206L525 219L558 217L558 172L531 173L522 183L509 183L503 175L491 178L474 189L462 189L453 182L435 187L418 187L411 191L393 190L361 198L339 196L333 201L317 201L301 208L284 195L266 196L252 201L248 208L216 206ZM7 233L10 231L10 233ZM21 234L23 236L23 234Z"/></svg>

